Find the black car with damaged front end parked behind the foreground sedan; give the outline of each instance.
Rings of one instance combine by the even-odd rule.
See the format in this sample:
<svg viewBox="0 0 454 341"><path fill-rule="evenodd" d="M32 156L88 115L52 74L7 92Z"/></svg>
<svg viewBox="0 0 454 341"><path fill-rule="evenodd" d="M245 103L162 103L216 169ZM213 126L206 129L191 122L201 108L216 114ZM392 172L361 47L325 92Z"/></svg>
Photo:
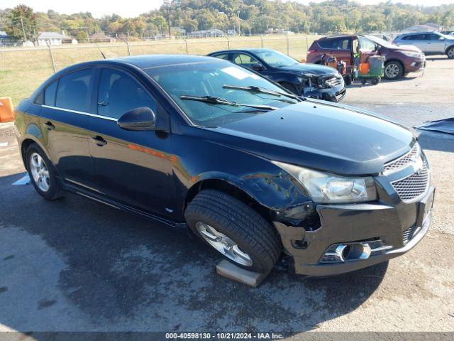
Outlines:
<svg viewBox="0 0 454 341"><path fill-rule="evenodd" d="M299 96L331 102L339 102L345 97L345 82L333 67L299 63L269 48L223 50L209 55L258 72Z"/></svg>

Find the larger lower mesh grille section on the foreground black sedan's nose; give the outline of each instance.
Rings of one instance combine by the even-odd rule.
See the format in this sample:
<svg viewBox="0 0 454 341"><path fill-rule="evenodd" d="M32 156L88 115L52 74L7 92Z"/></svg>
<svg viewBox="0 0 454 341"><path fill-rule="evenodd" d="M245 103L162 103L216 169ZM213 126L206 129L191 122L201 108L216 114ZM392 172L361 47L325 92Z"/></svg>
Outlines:
<svg viewBox="0 0 454 341"><path fill-rule="evenodd" d="M392 187L394 187L403 202L412 202L418 199L428 189L430 183L428 166L422 158L419 158L419 161L422 162L422 167L419 171L392 183Z"/></svg>

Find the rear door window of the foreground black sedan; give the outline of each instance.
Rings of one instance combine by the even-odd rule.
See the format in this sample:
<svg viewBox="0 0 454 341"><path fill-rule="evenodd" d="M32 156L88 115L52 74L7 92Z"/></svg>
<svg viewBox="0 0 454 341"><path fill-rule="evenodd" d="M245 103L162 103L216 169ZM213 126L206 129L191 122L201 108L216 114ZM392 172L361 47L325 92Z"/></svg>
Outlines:
<svg viewBox="0 0 454 341"><path fill-rule="evenodd" d="M92 69L71 72L60 78L55 107L89 112L89 85Z"/></svg>

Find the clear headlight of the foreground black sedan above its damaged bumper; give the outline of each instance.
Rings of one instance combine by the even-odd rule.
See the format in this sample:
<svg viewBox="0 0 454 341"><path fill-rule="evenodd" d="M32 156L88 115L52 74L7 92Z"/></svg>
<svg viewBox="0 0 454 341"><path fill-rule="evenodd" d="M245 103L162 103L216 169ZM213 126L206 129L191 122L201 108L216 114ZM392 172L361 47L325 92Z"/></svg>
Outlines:
<svg viewBox="0 0 454 341"><path fill-rule="evenodd" d="M313 171L311 169L272 161L298 180L314 202L346 203L377 199L374 179L369 177L350 178Z"/></svg>

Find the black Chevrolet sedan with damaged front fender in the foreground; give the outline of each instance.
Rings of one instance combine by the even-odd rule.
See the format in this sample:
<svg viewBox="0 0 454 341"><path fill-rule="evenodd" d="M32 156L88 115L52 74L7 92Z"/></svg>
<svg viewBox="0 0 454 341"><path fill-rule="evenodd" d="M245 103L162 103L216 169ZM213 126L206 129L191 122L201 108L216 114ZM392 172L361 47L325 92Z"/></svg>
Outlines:
<svg viewBox="0 0 454 341"><path fill-rule="evenodd" d="M18 105L15 124L45 199L69 190L189 227L252 271L279 259L314 276L360 269L409 251L431 221L428 163L411 131L226 60L67 67Z"/></svg>

